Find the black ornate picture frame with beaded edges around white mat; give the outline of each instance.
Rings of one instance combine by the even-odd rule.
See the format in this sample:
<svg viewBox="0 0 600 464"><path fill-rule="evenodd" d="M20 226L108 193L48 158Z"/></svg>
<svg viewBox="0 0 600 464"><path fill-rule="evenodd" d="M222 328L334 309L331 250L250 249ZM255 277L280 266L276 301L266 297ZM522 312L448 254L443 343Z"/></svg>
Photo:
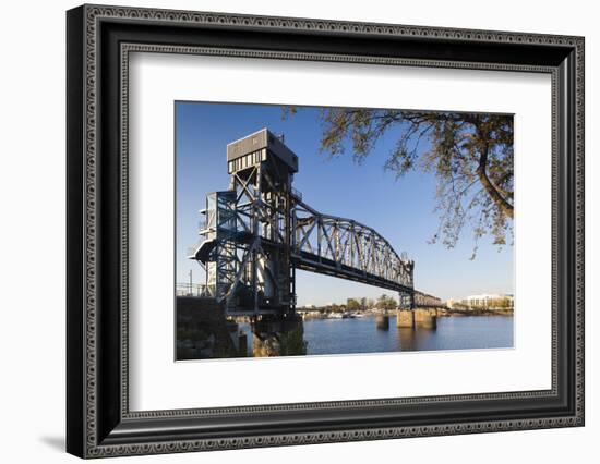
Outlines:
<svg viewBox="0 0 600 464"><path fill-rule="evenodd" d="M584 425L584 38L104 5L70 10L67 30L68 452L100 457ZM551 75L552 388L131 412L132 51Z"/></svg>

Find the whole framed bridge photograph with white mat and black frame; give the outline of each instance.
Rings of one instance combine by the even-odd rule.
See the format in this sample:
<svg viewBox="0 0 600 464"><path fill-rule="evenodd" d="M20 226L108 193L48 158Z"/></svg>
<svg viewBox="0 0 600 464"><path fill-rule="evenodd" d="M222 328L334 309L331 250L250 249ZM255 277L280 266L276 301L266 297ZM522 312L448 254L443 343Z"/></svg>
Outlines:
<svg viewBox="0 0 600 464"><path fill-rule="evenodd" d="M584 425L584 39L83 5L81 457Z"/></svg>

